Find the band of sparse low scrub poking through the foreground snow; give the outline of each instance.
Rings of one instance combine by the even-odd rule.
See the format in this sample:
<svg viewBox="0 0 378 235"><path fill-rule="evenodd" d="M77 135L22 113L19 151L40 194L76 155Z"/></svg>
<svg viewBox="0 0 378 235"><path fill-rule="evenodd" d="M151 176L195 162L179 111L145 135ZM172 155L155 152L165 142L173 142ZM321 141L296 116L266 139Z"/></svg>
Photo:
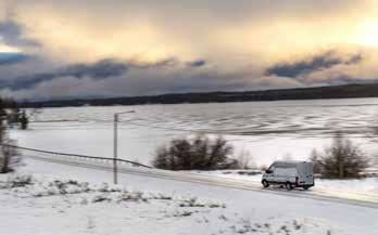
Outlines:
<svg viewBox="0 0 378 235"><path fill-rule="evenodd" d="M46 197L75 195L75 201L79 205L89 203L97 204L103 201L113 203L149 203L150 200L172 200L179 207L206 207L225 208L222 204L202 203L197 197L173 197L160 193L143 193L139 191L127 191L119 185L102 183L92 185L87 182L73 180L46 180L29 174L9 177L5 181L0 181L0 190L11 190L14 194L22 197Z"/></svg>

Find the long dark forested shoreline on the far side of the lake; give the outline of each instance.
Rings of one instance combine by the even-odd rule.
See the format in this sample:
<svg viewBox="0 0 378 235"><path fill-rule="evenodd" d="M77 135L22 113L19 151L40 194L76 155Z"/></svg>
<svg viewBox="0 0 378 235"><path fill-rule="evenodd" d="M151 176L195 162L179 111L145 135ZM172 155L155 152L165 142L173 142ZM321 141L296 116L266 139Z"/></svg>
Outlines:
<svg viewBox="0 0 378 235"><path fill-rule="evenodd" d="M124 96L109 99L73 99L39 102L23 102L22 107L79 107L146 104L200 104L232 102L266 102L292 100L329 100L378 97L378 83L344 84L315 88L275 89L239 92L171 93L149 96Z"/></svg>

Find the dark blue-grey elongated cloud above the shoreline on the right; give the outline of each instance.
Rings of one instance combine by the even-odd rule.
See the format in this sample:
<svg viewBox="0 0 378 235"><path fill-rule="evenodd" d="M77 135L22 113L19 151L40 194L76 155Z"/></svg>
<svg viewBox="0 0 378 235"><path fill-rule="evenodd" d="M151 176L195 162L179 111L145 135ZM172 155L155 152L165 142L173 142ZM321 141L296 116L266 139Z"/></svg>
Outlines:
<svg viewBox="0 0 378 235"><path fill-rule="evenodd" d="M346 58L343 58L341 56L338 56L335 51L328 51L324 54L316 55L314 57L306 58L303 61L287 64L277 64L273 67L267 68L265 70L265 74L268 76L275 75L279 77L295 78L300 75L311 74L316 70L331 68L336 65L358 64L362 61L363 56L361 54L355 54Z"/></svg>

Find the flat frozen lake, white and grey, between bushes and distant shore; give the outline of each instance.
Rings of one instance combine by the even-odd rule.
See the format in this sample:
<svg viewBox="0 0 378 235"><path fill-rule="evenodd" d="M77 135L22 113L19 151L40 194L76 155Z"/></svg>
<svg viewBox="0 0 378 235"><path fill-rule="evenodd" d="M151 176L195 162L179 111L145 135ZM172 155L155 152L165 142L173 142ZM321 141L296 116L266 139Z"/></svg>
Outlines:
<svg viewBox="0 0 378 235"><path fill-rule="evenodd" d="M370 156L378 153L378 99L43 108L30 130L11 134L26 147L112 157L113 114L127 110L135 113L122 116L119 157L143 164L158 146L191 131L223 134L236 155L248 151L257 165L306 159L336 131Z"/></svg>

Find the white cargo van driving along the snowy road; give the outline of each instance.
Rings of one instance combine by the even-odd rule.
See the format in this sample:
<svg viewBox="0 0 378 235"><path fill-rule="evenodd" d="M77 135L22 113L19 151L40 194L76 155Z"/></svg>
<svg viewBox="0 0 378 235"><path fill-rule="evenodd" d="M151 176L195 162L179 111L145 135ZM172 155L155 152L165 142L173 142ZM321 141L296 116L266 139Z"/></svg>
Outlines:
<svg viewBox="0 0 378 235"><path fill-rule="evenodd" d="M270 184L285 185L287 190L314 186L314 166L308 161L275 161L262 178L264 187Z"/></svg>

